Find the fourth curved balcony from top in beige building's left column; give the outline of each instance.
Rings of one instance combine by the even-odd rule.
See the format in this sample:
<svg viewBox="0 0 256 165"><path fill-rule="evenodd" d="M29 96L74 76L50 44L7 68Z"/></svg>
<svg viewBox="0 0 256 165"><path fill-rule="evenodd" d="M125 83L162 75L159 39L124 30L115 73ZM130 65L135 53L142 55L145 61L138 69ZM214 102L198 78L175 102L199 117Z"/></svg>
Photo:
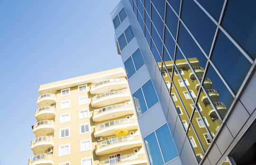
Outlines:
<svg viewBox="0 0 256 165"><path fill-rule="evenodd" d="M44 153L48 148L54 147L53 136L41 136L31 141L31 150L34 155Z"/></svg>

